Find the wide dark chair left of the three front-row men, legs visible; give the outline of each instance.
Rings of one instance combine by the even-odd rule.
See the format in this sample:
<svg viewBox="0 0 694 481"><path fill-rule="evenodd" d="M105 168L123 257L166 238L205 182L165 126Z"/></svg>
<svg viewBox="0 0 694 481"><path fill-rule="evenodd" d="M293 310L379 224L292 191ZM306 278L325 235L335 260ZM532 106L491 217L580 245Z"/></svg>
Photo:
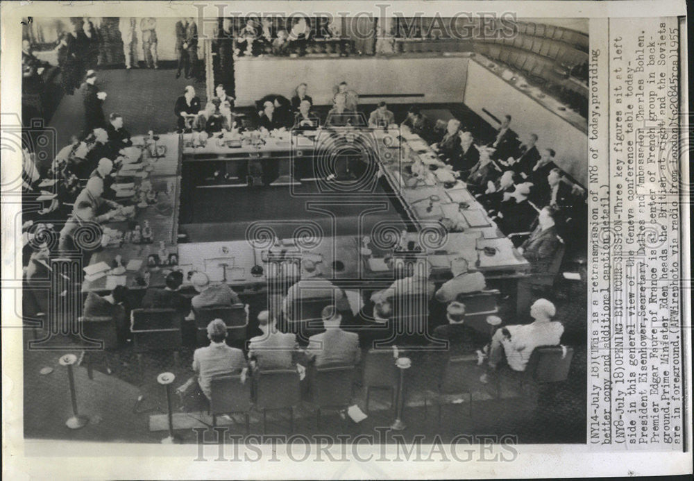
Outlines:
<svg viewBox="0 0 694 481"><path fill-rule="evenodd" d="M174 309L133 309L130 312L133 348L143 376L144 353L173 353L174 362L178 365L178 351L183 344L181 317L183 314Z"/></svg>

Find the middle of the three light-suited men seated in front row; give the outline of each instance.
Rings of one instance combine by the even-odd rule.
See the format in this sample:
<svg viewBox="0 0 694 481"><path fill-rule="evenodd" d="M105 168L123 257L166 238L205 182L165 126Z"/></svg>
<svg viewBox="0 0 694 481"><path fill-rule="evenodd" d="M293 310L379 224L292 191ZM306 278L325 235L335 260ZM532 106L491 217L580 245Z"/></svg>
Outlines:
<svg viewBox="0 0 694 481"><path fill-rule="evenodd" d="M258 314L258 327L262 335L248 342L251 366L263 369L291 369L296 361L296 335L278 331L275 318L268 311Z"/></svg>

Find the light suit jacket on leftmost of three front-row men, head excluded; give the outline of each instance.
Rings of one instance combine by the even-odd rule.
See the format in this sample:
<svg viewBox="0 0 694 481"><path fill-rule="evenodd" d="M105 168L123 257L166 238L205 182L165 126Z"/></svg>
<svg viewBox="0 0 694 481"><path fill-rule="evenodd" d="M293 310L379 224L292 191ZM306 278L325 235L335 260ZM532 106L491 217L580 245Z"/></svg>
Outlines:
<svg viewBox="0 0 694 481"><path fill-rule="evenodd" d="M246 358L241 349L227 346L226 343L210 343L210 346L197 348L193 353L193 371L198 378L200 389L210 398L212 379L239 373L246 367Z"/></svg>

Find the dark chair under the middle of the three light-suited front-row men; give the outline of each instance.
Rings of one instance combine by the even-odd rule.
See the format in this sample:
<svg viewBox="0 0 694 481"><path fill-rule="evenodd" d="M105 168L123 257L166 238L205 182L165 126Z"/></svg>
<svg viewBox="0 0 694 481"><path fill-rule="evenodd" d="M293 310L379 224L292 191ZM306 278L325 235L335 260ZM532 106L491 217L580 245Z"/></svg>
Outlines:
<svg viewBox="0 0 694 481"><path fill-rule="evenodd" d="M294 369L256 371L255 403L262 410L262 429L266 432L267 410L289 410L289 432L294 432L294 406L301 403L301 384ZM281 396L278 396L281 393Z"/></svg>

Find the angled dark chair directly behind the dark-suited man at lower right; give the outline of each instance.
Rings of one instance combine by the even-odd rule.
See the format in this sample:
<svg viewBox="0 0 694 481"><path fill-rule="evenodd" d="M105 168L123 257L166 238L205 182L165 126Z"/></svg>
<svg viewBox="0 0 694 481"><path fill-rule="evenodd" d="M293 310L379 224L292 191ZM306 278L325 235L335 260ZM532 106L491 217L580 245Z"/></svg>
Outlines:
<svg viewBox="0 0 694 481"><path fill-rule="evenodd" d="M477 366L476 355L462 355L450 357L443 366L443 372L439 378L437 390L428 393L424 398L424 415L427 416L427 408L430 400L439 407L438 422L441 424L441 405L448 404L448 399L453 396L467 396L468 416L473 414L472 386L479 382L484 368ZM457 400L452 400L457 404Z"/></svg>

